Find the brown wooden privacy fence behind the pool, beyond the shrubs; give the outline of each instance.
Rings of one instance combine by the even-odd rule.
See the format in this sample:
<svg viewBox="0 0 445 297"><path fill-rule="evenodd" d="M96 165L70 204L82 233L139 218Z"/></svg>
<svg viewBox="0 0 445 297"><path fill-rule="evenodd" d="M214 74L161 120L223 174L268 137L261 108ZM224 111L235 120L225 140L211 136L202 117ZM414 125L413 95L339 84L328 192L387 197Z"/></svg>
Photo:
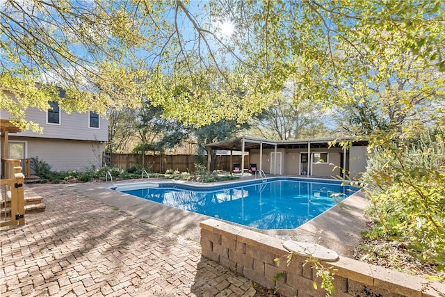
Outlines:
<svg viewBox="0 0 445 297"><path fill-rule="evenodd" d="M168 169L179 172L195 171L195 163L207 164L207 155L197 156L193 154L113 154L104 152L104 166L119 169L128 169L132 166L142 166L150 172L165 173ZM233 169L230 156L218 155L214 161L216 170ZM232 156L232 163L241 163L241 156ZM249 168L248 158L244 160L244 168Z"/></svg>

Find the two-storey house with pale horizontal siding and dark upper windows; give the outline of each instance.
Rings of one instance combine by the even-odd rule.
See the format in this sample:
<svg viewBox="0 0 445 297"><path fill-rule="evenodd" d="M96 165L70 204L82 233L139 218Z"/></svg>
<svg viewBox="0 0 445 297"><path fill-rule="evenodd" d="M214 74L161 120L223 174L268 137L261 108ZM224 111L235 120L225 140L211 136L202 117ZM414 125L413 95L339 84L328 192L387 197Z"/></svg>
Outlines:
<svg viewBox="0 0 445 297"><path fill-rule="evenodd" d="M10 133L8 157L29 159L38 157L51 165L51 170L86 170L102 166L102 152L108 141L108 121L97 113L65 113L56 103L53 109L27 109L26 120L43 128L42 134L33 131ZM1 111L1 119L9 113Z"/></svg>

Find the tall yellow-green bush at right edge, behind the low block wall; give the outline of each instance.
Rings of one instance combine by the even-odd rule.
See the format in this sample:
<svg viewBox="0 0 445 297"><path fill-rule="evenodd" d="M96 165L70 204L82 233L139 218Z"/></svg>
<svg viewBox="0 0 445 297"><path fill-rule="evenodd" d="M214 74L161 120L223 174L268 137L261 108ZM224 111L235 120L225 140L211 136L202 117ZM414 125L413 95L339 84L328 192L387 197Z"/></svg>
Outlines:
<svg viewBox="0 0 445 297"><path fill-rule="evenodd" d="M421 262L445 271L445 145L422 134L396 150L375 150L364 175L369 210L378 222L369 236L397 240Z"/></svg>

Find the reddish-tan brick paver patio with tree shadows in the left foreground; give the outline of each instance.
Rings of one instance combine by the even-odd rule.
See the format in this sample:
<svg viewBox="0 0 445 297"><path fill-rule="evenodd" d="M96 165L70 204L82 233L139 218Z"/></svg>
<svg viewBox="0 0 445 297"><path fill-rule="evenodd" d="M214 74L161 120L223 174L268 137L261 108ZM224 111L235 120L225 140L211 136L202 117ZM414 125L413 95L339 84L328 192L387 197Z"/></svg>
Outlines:
<svg viewBox="0 0 445 297"><path fill-rule="evenodd" d="M47 209L1 228L1 296L259 296L196 241L57 184L26 188Z"/></svg>

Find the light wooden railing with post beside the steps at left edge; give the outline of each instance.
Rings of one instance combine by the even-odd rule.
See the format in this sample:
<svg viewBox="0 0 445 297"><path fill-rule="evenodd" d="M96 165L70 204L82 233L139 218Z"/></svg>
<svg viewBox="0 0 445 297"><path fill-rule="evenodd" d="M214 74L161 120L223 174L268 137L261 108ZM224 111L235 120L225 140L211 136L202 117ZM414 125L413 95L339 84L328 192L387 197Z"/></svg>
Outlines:
<svg viewBox="0 0 445 297"><path fill-rule="evenodd" d="M2 162L3 163L3 162ZM13 166L9 178L0 179L0 226L24 225L24 175L20 160L8 162ZM10 168L8 168L10 170ZM6 172L3 172L6 173Z"/></svg>

